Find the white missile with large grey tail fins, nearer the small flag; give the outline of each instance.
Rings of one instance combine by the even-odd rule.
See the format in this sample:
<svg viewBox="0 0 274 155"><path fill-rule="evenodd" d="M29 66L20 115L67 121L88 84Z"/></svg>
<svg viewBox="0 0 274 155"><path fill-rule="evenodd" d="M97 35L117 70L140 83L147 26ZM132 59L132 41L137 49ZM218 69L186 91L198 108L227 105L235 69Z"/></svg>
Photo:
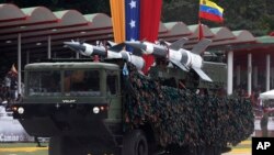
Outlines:
<svg viewBox="0 0 274 155"><path fill-rule="evenodd" d="M134 48L138 48L145 55L153 55L155 57L162 57L170 60L181 69L189 71L191 68L197 73L197 75L206 80L213 81L203 70L203 58L201 53L206 49L210 44L210 40L204 38L199 41L192 51L182 48L187 42L187 38L181 38L174 43L165 43L165 45L158 45L150 42L130 41L125 42Z"/></svg>

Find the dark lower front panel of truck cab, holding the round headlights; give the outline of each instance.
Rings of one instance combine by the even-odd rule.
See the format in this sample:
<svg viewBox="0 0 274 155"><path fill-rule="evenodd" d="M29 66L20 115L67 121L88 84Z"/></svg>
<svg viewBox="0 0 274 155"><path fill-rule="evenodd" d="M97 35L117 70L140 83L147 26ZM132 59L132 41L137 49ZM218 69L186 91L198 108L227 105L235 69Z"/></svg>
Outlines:
<svg viewBox="0 0 274 155"><path fill-rule="evenodd" d="M94 108L99 113L94 113ZM30 135L35 136L109 136L107 104L102 103L18 103L12 106L18 119Z"/></svg>

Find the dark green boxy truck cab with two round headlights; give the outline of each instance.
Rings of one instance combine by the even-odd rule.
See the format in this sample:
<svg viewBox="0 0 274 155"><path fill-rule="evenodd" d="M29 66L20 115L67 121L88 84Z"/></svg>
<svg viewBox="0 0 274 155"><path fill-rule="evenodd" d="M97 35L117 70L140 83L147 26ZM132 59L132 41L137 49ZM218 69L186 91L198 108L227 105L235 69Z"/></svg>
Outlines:
<svg viewBox="0 0 274 155"><path fill-rule="evenodd" d="M28 64L25 95L12 104L13 118L30 135L52 137L53 155L90 140L115 146L115 134L122 131L119 76L119 66L107 63ZM67 140L70 145L65 150L54 146L68 145ZM78 152L85 144L91 143L81 143Z"/></svg>

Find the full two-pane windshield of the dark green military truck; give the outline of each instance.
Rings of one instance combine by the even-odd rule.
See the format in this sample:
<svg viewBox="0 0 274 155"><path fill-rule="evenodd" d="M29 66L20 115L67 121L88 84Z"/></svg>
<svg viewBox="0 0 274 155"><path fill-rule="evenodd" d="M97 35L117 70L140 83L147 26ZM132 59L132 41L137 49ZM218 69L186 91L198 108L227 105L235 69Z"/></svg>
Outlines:
<svg viewBox="0 0 274 155"><path fill-rule="evenodd" d="M99 70L30 71L27 82L28 96L101 96Z"/></svg>

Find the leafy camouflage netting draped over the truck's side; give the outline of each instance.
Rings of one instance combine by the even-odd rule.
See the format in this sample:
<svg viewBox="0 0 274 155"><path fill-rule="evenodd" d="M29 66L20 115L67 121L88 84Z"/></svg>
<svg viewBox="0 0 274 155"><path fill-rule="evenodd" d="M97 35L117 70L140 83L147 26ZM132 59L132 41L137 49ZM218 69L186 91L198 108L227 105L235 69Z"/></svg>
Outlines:
<svg viewBox="0 0 274 155"><path fill-rule="evenodd" d="M161 86L127 64L125 77L127 126L149 122L162 146L237 145L254 129L252 107L242 98L202 97L190 90Z"/></svg>

